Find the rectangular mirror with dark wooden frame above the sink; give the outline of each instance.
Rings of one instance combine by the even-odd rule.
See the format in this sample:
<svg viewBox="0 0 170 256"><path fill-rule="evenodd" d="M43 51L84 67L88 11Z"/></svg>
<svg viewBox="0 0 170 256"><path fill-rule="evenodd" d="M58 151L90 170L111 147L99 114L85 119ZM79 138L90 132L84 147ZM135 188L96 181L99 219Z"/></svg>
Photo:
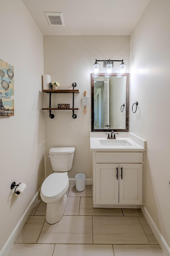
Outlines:
<svg viewBox="0 0 170 256"><path fill-rule="evenodd" d="M91 131L129 131L129 73L92 73L91 98Z"/></svg>

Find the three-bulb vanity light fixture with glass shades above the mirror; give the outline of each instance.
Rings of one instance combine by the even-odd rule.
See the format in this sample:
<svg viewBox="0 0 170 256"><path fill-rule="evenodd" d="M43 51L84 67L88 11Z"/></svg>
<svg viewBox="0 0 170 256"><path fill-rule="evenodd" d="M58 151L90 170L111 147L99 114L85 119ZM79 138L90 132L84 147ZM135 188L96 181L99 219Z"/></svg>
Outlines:
<svg viewBox="0 0 170 256"><path fill-rule="evenodd" d="M96 62L94 63L93 65L93 73L94 74L99 74L99 64L97 63L97 61L103 61L106 63L106 73L107 74L112 74L112 68L113 68L113 65L112 65L112 62L114 61L121 61L121 64L119 65L119 69L120 69L120 74L125 74L126 72L126 64L123 62L123 59L122 60L97 60L96 59Z"/></svg>

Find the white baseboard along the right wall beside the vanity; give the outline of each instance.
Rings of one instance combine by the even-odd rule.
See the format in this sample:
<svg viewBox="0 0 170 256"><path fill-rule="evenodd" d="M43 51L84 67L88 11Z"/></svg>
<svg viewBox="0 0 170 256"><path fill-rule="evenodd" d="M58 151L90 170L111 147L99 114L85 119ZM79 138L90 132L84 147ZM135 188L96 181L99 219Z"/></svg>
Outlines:
<svg viewBox="0 0 170 256"><path fill-rule="evenodd" d="M160 233L160 231L159 231L158 227L156 226L155 222L151 218L151 215L148 213L146 207L141 205L141 210L142 210L142 213L144 214L149 226L151 227L156 239L158 240L158 243L159 243L160 247L162 248L164 254L166 256L170 256L170 248L167 245L167 243L166 243L165 239L163 238L162 234Z"/></svg>

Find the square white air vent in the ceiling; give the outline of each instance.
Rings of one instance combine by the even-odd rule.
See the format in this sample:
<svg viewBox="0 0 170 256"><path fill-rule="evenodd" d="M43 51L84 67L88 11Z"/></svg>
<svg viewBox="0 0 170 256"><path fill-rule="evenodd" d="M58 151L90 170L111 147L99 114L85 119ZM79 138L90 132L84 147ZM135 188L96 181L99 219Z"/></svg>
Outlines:
<svg viewBox="0 0 170 256"><path fill-rule="evenodd" d="M65 26L63 14L54 12L44 12L50 26Z"/></svg>

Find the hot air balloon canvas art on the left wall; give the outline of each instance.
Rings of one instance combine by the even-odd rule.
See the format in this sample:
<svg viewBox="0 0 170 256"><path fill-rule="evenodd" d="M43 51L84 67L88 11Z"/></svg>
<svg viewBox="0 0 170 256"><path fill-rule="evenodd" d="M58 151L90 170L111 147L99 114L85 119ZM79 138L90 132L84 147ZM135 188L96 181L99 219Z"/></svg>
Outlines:
<svg viewBox="0 0 170 256"><path fill-rule="evenodd" d="M0 59L0 117L14 116L14 67Z"/></svg>

